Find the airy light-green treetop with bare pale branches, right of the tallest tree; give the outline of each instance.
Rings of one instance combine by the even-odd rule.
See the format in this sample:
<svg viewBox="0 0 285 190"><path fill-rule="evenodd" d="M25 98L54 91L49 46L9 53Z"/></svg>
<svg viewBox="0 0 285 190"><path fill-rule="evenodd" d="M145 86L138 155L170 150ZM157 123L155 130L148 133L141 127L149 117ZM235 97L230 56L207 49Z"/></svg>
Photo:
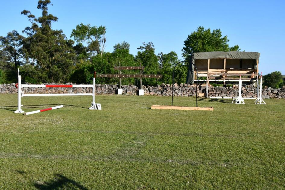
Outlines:
<svg viewBox="0 0 285 190"><path fill-rule="evenodd" d="M91 54L94 55L94 52L97 54L103 55L103 51L106 46L106 27L105 26L93 26L90 24L84 25L83 23L78 24L75 29L71 32L71 37L74 37L74 40L77 43L87 43L88 50Z"/></svg>

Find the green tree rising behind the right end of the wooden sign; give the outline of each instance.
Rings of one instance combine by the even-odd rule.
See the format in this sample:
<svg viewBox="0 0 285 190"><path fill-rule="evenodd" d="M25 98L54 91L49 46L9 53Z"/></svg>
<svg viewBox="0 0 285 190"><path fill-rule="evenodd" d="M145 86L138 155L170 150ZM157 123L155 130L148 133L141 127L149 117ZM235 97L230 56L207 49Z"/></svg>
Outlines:
<svg viewBox="0 0 285 190"><path fill-rule="evenodd" d="M155 55L154 45L152 42L142 43L143 46L138 47L138 54L136 55L136 61L144 66L144 74L158 74L159 63L158 56ZM155 78L144 78L144 85L157 85L157 79Z"/></svg>

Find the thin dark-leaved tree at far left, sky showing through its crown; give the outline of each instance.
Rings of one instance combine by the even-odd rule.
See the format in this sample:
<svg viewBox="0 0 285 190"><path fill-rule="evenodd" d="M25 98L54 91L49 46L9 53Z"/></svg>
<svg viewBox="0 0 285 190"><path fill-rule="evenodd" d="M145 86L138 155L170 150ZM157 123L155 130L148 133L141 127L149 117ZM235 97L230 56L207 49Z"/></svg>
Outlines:
<svg viewBox="0 0 285 190"><path fill-rule="evenodd" d="M23 58L22 42L24 36L21 36L16 30L7 33L7 36L0 36L0 43L3 47L2 51L7 55L8 62L14 63L14 69L21 65Z"/></svg>

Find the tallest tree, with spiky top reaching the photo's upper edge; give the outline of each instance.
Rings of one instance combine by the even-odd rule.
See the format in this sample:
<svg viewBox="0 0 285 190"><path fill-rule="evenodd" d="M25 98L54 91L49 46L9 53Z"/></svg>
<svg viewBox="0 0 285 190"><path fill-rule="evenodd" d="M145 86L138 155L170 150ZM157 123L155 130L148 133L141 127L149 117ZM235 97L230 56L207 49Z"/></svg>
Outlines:
<svg viewBox="0 0 285 190"><path fill-rule="evenodd" d="M58 18L48 14L49 4L49 0L38 2L37 8L42 10L42 16L38 18L30 11L21 12L32 24L23 30L28 36L23 40L23 50L34 69L41 73L37 76L38 81L63 82L69 78L74 65L74 41L67 40L62 30L52 30L52 23Z"/></svg>

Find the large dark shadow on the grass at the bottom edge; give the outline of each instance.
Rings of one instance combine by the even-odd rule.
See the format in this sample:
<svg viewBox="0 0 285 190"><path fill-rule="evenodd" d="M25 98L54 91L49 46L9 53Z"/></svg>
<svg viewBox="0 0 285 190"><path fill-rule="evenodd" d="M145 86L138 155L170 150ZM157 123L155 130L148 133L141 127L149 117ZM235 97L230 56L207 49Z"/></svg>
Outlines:
<svg viewBox="0 0 285 190"><path fill-rule="evenodd" d="M55 177L53 179L50 179L47 182L36 182L34 183L34 186L37 189L62 189L64 188L64 189L87 190L87 188L85 188L83 185L61 174L55 174Z"/></svg>

